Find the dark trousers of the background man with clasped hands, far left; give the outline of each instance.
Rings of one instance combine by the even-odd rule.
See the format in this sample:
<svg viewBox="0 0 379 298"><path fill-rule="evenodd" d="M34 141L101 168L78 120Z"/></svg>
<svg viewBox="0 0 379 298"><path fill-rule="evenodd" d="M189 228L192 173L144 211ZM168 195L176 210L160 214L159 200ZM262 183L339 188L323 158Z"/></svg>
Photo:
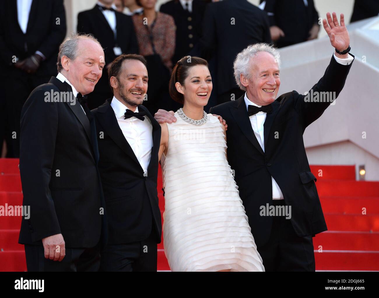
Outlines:
<svg viewBox="0 0 379 298"><path fill-rule="evenodd" d="M8 125L5 135L8 158L20 156L20 118L22 106L31 91L39 85L49 82L51 76L37 76L14 68L4 77L5 103L8 113ZM43 100L43 98L41 98Z"/></svg>

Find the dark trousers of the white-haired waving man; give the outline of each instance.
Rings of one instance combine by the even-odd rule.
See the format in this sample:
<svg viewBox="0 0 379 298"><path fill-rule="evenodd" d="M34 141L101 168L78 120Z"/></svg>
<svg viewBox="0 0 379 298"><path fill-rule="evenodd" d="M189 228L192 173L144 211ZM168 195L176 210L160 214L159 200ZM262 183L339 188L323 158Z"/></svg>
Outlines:
<svg viewBox="0 0 379 298"><path fill-rule="evenodd" d="M273 200L273 205L285 205L285 202ZM269 241L257 249L265 271L315 271L312 236L296 235L285 215L273 216Z"/></svg>

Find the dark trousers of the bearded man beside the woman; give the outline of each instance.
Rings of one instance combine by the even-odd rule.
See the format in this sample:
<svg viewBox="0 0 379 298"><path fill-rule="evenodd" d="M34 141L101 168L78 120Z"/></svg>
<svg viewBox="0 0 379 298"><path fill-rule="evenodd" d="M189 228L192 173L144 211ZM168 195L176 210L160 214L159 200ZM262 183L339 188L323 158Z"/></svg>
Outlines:
<svg viewBox="0 0 379 298"><path fill-rule="evenodd" d="M157 271L157 237L154 227L145 240L107 245L101 254L100 271Z"/></svg>

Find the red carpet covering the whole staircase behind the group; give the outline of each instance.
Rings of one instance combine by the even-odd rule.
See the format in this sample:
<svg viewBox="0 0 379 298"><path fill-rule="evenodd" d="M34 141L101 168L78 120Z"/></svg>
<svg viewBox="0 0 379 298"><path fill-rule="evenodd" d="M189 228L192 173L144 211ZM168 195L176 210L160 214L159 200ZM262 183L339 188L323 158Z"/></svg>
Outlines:
<svg viewBox="0 0 379 298"><path fill-rule="evenodd" d="M18 159L0 159L0 205L22 205ZM160 167L159 167L160 169ZM313 238L316 270L379 270L379 182L356 181L354 166L311 166L328 231ZM322 171L320 171L322 170ZM164 197L158 173L161 212ZM362 214L365 211L365 214ZM20 217L0 217L0 271L26 271ZM158 244L158 270L170 270Z"/></svg>

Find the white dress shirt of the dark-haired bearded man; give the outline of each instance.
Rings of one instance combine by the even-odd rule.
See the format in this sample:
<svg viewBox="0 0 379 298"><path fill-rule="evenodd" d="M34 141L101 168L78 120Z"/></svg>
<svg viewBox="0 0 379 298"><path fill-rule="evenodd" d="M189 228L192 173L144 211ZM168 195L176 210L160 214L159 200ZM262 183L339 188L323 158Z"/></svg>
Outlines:
<svg viewBox="0 0 379 298"><path fill-rule="evenodd" d="M121 128L122 134L129 143L130 147L139 161L144 173L147 173L149 166L151 149L153 147L153 126L149 117L144 116L141 121L136 117L125 119L125 111L128 107L113 96L111 107L116 115L117 123ZM138 107L135 110L138 113Z"/></svg>

